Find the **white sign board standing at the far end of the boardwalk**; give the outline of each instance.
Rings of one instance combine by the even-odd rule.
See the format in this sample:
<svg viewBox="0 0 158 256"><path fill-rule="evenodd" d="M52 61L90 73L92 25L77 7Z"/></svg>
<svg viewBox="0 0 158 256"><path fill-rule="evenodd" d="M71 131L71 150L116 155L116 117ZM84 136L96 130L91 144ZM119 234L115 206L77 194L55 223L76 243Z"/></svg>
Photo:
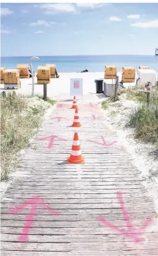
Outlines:
<svg viewBox="0 0 158 256"><path fill-rule="evenodd" d="M83 79L71 78L70 79L70 99L71 96L82 96L83 100Z"/></svg>

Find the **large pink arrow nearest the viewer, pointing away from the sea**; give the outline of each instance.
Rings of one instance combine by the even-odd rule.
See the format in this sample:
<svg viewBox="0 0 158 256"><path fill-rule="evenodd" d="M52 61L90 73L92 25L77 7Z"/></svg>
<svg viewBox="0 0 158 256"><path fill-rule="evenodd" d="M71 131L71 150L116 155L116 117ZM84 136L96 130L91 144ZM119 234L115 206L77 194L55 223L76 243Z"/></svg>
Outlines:
<svg viewBox="0 0 158 256"><path fill-rule="evenodd" d="M120 207L122 210L122 214L124 215L124 220L126 221L126 226L127 226L127 230L126 229L120 229L119 227L117 227L116 225L114 225L113 223L111 223L110 221L104 219L102 216L98 216L98 219L106 226L109 227L111 229L113 229L113 231L117 231L118 233L130 238L131 240L133 240L134 242L141 242L143 239L141 238L141 232L148 226L150 225L150 223L152 223L152 217L148 217L144 223L142 223L140 228L135 227L131 221L130 221L130 216L128 215L128 212L126 210L126 208L124 207L124 202L123 202L123 196L122 193L117 192L117 199L118 202L120 203Z"/></svg>

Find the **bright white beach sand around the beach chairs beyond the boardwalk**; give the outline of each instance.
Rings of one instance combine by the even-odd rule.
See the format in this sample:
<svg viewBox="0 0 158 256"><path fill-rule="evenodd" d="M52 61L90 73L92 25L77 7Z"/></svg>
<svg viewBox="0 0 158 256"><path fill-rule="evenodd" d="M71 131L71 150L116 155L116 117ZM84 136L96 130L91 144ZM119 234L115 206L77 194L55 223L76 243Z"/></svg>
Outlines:
<svg viewBox="0 0 158 256"><path fill-rule="evenodd" d="M61 100L69 99L70 78L83 78L84 95L88 93L96 93L95 79L104 78L104 72L86 72L86 73L59 73L60 78L51 79L51 83L47 85L47 96L52 99L61 98ZM118 72L119 81L121 81L121 72ZM34 77L34 94L43 96L43 85L37 84L37 78ZM111 83L111 80L109 80ZM132 86L135 83L126 83ZM3 85L1 85L3 89ZM9 90L7 90L9 91ZM32 78L21 79L21 89L17 90L19 94L31 95L32 93Z"/></svg>

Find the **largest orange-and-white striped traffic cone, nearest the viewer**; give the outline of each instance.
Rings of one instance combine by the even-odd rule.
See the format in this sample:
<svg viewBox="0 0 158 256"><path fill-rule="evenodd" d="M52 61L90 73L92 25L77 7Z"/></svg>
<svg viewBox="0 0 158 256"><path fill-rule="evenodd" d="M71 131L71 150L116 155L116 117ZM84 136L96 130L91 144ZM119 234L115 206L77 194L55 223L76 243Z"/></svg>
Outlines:
<svg viewBox="0 0 158 256"><path fill-rule="evenodd" d="M74 132L73 146L71 155L67 158L67 164L85 164L84 157L81 154L80 141L77 132Z"/></svg>

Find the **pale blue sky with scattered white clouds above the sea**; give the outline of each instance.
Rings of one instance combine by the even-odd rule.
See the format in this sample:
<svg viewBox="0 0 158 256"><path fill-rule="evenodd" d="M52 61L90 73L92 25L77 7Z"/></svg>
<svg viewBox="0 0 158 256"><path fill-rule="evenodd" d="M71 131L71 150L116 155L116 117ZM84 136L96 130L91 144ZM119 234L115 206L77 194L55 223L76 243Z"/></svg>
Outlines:
<svg viewBox="0 0 158 256"><path fill-rule="evenodd" d="M2 3L1 56L153 55L158 3Z"/></svg>

